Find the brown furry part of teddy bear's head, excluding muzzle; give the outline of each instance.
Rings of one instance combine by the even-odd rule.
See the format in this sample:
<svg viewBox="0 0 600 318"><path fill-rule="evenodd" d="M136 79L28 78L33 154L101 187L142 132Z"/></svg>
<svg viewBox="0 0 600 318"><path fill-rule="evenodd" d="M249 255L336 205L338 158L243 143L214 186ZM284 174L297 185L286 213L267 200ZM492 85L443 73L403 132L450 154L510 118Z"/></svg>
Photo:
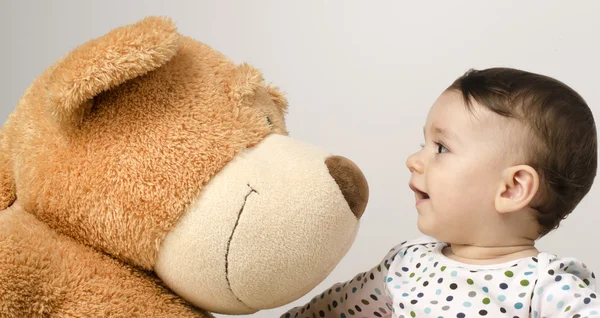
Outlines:
<svg viewBox="0 0 600 318"><path fill-rule="evenodd" d="M111 59L115 52L125 55ZM27 211L151 270L202 186L239 151L287 133L286 107L257 70L151 18L82 45L40 76L4 127L3 150L28 181L16 180Z"/></svg>

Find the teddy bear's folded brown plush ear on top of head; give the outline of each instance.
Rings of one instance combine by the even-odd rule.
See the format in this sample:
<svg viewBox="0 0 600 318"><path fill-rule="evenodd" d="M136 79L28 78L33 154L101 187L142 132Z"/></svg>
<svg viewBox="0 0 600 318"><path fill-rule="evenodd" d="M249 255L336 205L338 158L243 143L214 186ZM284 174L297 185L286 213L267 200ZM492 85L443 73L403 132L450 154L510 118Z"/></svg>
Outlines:
<svg viewBox="0 0 600 318"><path fill-rule="evenodd" d="M48 77L51 116L62 128L78 127L94 96L164 65L179 43L169 18L148 17L80 45Z"/></svg>

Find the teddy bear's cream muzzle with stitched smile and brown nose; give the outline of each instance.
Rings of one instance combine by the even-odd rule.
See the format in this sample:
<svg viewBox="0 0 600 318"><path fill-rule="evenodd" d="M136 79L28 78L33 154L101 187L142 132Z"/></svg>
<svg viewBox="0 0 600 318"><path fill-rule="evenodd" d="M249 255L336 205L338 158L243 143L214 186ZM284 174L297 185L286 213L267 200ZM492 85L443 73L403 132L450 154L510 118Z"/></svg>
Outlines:
<svg viewBox="0 0 600 318"><path fill-rule="evenodd" d="M268 136L205 186L165 237L155 271L213 312L282 306L316 287L346 254L368 195L349 159Z"/></svg>

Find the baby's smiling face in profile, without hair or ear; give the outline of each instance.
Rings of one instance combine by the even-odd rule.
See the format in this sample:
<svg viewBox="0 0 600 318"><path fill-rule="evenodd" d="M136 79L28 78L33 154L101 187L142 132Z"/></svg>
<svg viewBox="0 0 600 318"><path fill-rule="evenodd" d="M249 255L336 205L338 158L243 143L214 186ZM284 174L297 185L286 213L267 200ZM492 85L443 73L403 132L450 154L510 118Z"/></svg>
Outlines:
<svg viewBox="0 0 600 318"><path fill-rule="evenodd" d="M494 198L515 162L508 150L518 144L513 123L473 106L457 91L444 92L427 116L422 150L407 160L419 230L457 244L489 235L498 221Z"/></svg>

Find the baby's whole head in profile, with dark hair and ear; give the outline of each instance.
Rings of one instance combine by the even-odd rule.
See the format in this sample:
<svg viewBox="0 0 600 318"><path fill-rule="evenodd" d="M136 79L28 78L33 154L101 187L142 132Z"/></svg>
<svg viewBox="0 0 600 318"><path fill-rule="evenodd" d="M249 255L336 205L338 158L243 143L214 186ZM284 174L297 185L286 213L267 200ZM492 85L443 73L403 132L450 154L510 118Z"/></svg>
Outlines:
<svg viewBox="0 0 600 318"><path fill-rule="evenodd" d="M431 107L424 133L407 160L418 226L446 242L535 240L558 227L596 175L591 110L538 74L467 72Z"/></svg>

